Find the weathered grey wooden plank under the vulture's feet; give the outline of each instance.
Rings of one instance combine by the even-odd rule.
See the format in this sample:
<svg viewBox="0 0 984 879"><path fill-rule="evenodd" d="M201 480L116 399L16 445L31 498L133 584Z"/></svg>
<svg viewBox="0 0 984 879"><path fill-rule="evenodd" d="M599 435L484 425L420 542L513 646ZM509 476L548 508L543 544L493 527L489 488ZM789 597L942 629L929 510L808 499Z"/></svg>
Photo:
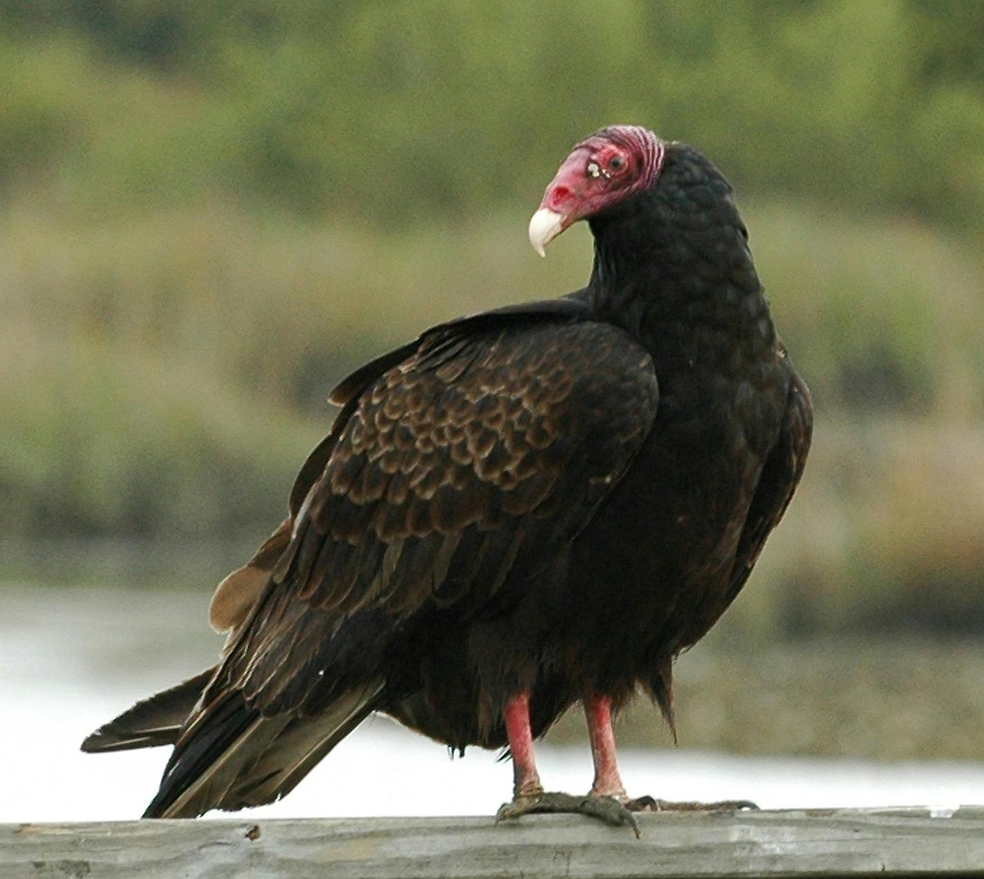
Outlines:
<svg viewBox="0 0 984 879"><path fill-rule="evenodd" d="M0 825L0 877L984 877L984 807Z"/></svg>

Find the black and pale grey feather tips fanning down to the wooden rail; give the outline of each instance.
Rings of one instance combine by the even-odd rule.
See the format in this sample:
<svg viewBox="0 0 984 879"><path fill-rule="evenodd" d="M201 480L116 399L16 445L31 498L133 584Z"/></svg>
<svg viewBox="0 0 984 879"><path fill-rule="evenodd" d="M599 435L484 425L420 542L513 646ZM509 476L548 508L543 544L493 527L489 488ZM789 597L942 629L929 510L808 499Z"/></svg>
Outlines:
<svg viewBox="0 0 984 879"><path fill-rule="evenodd" d="M273 802L293 789L376 707L381 682L349 690L317 717L264 717L238 692L209 706L181 736L145 818Z"/></svg>

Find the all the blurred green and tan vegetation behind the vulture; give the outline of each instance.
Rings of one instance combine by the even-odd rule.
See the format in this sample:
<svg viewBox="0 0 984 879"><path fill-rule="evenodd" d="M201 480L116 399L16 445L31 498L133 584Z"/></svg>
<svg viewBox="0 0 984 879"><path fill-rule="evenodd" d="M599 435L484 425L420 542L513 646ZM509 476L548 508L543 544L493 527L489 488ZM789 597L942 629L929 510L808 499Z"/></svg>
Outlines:
<svg viewBox="0 0 984 879"><path fill-rule="evenodd" d="M984 634L982 40L973 0L0 0L0 576L207 591L347 370L584 282L525 223L624 121L735 185L817 406L714 643Z"/></svg>

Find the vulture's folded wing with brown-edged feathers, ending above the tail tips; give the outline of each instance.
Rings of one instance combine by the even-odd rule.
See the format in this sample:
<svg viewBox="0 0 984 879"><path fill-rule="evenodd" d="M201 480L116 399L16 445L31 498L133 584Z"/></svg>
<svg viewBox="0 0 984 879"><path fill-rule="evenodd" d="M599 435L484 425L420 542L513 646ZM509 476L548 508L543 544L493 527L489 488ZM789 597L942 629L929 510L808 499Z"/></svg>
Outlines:
<svg viewBox="0 0 984 879"><path fill-rule="evenodd" d="M628 468L656 398L646 352L606 325L420 345L348 404L206 701L314 710L415 614L509 600Z"/></svg>

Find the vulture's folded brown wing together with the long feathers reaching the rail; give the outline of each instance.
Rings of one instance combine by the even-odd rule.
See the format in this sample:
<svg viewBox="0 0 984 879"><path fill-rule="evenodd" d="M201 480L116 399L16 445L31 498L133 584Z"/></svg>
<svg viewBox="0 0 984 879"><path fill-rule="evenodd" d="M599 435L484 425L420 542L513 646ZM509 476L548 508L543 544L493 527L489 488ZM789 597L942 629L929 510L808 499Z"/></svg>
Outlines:
<svg viewBox="0 0 984 879"><path fill-rule="evenodd" d="M287 522L224 588L223 658L148 816L282 794L389 698L419 621L488 615L563 570L657 390L641 347L562 305L438 328L343 383Z"/></svg>

